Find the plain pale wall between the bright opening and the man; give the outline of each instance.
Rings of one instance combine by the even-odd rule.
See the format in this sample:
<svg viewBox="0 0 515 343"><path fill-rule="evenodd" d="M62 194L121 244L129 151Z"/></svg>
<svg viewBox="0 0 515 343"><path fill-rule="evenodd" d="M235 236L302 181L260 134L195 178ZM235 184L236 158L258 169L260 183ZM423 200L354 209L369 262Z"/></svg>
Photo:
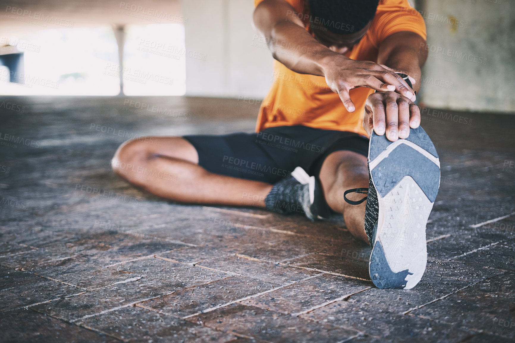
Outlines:
<svg viewBox="0 0 515 343"><path fill-rule="evenodd" d="M183 0L186 95L262 98L271 85L272 56L255 39L251 0ZM258 45L258 46L256 46Z"/></svg>

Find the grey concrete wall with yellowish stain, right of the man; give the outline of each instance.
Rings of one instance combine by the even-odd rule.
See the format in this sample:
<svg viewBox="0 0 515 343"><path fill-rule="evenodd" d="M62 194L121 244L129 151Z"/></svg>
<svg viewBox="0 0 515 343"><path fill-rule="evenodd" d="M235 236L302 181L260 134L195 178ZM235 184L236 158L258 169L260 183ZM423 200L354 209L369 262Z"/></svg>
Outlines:
<svg viewBox="0 0 515 343"><path fill-rule="evenodd" d="M434 108L515 112L515 1L421 3L430 44L421 101Z"/></svg>

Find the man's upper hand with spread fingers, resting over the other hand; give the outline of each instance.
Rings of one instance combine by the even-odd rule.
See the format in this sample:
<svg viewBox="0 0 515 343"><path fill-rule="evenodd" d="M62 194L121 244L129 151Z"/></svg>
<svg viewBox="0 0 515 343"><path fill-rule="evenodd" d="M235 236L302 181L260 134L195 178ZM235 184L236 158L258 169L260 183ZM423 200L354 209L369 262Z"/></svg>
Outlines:
<svg viewBox="0 0 515 343"><path fill-rule="evenodd" d="M355 61L343 55L332 55L323 65L325 82L333 92L338 93L349 112L356 109L349 95L349 91L356 87L369 87L380 92L394 91L399 97L405 96L412 101L416 99L415 93L402 77L380 64Z"/></svg>

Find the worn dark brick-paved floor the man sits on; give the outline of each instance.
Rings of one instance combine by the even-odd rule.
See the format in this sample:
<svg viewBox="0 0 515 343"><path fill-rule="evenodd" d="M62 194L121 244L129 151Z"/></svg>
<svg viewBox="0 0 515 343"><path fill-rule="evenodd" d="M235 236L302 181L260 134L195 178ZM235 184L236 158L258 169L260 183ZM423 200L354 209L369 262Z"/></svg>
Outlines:
<svg viewBox="0 0 515 343"><path fill-rule="evenodd" d="M515 116L424 112L427 269L389 290L340 218L173 203L111 172L124 136L252 132L248 102L0 99L0 341L515 339Z"/></svg>

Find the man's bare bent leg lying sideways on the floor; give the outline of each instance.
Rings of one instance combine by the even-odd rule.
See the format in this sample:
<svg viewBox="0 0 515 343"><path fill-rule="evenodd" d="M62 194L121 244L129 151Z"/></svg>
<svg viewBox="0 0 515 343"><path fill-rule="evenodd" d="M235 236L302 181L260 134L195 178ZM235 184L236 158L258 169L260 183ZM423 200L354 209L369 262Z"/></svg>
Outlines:
<svg viewBox="0 0 515 343"><path fill-rule="evenodd" d="M125 142L116 151L112 167L130 183L181 202L265 207L272 188L265 182L210 173L198 165L195 147L181 137Z"/></svg>

